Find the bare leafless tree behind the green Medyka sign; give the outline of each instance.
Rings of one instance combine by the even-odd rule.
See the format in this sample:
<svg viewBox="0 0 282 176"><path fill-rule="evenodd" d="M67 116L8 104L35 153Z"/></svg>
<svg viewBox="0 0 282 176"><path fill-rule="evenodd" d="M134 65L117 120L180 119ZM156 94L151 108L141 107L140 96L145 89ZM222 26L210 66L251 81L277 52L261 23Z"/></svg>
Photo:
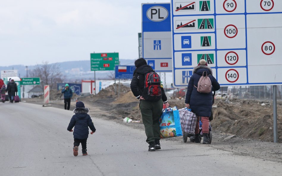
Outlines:
<svg viewBox="0 0 282 176"><path fill-rule="evenodd" d="M41 65L37 64L33 73L40 77L42 86L49 85L51 90L56 88L56 83L63 80L58 63L48 64L48 61L43 61Z"/></svg>

